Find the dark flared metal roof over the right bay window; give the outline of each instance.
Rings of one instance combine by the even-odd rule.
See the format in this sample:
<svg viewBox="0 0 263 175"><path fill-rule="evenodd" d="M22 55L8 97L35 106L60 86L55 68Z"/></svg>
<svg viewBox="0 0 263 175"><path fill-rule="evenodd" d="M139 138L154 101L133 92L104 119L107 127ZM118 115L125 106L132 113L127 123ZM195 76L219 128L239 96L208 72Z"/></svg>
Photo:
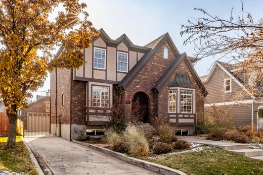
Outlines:
<svg viewBox="0 0 263 175"><path fill-rule="evenodd" d="M195 88L191 83L188 74L177 73L174 80L168 85L169 87L185 87L185 88Z"/></svg>

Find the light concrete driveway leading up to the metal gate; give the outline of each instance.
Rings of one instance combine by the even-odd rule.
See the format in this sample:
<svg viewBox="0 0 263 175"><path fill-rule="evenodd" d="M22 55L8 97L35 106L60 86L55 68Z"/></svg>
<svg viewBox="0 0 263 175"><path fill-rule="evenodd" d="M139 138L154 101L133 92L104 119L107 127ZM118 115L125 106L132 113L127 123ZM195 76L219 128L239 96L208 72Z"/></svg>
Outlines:
<svg viewBox="0 0 263 175"><path fill-rule="evenodd" d="M158 174L62 138L29 138L54 174Z"/></svg>

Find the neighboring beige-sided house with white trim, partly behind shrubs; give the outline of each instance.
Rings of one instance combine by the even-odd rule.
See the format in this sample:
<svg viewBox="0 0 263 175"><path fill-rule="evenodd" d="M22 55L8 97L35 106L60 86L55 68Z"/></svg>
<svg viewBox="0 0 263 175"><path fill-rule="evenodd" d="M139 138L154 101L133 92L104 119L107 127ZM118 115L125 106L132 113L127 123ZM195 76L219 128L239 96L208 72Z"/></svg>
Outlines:
<svg viewBox="0 0 263 175"><path fill-rule="evenodd" d="M205 98L205 110L211 105L226 107L230 116L235 116L234 126L245 125L263 128L263 100L249 95L245 84L251 80L244 74L236 75L234 65L215 62L208 75L201 76L208 95Z"/></svg>

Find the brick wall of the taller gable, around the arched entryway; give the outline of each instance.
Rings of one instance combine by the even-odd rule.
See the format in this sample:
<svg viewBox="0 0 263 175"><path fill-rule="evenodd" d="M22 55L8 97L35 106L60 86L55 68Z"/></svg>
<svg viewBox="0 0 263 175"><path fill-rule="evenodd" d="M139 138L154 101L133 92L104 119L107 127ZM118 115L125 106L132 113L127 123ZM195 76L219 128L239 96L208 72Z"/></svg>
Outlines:
<svg viewBox="0 0 263 175"><path fill-rule="evenodd" d="M168 59L163 58L163 47L168 47ZM143 91L148 94L150 98L149 112L157 116L157 95L154 94L151 88L159 80L162 74L170 66L171 62L176 56L172 52L170 46L165 43L161 48L153 55L148 63L138 73L130 84L125 88L125 101L131 101L136 92ZM131 111L131 103L125 104L125 112L129 116Z"/></svg>

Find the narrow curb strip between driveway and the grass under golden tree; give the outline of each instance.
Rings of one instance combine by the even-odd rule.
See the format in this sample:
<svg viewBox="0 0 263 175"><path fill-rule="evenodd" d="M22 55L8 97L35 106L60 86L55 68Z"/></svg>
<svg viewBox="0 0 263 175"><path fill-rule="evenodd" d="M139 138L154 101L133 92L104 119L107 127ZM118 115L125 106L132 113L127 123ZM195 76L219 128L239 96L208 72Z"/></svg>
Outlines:
<svg viewBox="0 0 263 175"><path fill-rule="evenodd" d="M39 172L39 175L45 174L45 175L54 175L52 170L49 168L49 166L46 164L46 162L42 159L42 157L38 154L34 146L30 143L30 141L26 141L23 139L24 143L26 143L27 149L30 150L32 153L32 156L34 157L36 163L37 163L37 171ZM39 168L41 171L39 170Z"/></svg>

